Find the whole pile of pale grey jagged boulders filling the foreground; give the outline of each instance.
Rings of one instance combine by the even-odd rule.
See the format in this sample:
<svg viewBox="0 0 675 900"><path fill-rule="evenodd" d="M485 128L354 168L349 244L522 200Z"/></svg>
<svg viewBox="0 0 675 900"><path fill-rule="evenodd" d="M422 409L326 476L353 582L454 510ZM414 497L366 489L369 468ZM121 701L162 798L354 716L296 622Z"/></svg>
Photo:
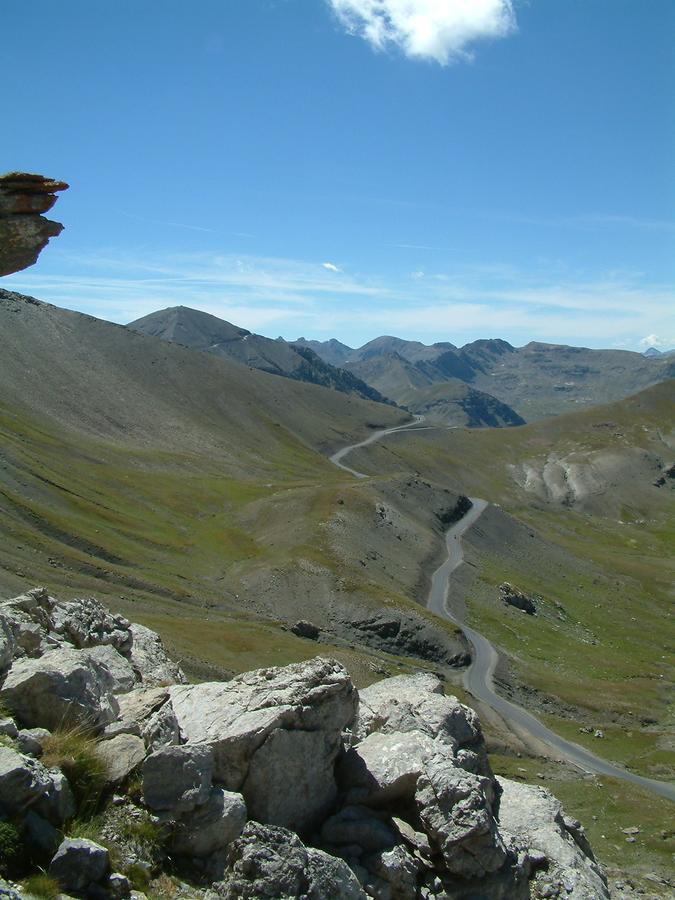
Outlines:
<svg viewBox="0 0 675 900"><path fill-rule="evenodd" d="M154 632L37 588L0 602L0 677L0 896L609 896L435 676L359 694L317 657L186 684Z"/></svg>

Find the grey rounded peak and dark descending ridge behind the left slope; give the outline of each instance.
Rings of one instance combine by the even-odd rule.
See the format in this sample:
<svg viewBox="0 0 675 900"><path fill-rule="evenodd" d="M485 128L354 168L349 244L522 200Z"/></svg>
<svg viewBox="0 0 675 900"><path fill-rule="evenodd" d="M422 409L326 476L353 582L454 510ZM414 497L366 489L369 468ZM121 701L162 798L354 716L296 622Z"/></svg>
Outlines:
<svg viewBox="0 0 675 900"><path fill-rule="evenodd" d="M351 373L325 363L308 347L273 341L200 310L186 306L169 307L130 322L127 327L215 356L234 359L273 375L320 384L366 400L387 402L372 387Z"/></svg>

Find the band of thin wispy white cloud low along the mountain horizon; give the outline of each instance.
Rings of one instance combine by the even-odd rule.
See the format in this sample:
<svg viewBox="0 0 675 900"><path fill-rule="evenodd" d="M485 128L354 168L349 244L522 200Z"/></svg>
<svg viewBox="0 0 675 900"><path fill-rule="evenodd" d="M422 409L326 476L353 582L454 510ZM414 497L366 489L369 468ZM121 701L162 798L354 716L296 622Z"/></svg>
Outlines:
<svg viewBox="0 0 675 900"><path fill-rule="evenodd" d="M456 344L496 336L634 349L673 343L658 337L673 334L673 287L637 272L592 277L496 262L394 278L251 255L133 257L109 249L75 257L54 249L58 274L41 264L3 278L2 286L117 322L185 305L254 331L338 337L352 346L382 333Z"/></svg>

